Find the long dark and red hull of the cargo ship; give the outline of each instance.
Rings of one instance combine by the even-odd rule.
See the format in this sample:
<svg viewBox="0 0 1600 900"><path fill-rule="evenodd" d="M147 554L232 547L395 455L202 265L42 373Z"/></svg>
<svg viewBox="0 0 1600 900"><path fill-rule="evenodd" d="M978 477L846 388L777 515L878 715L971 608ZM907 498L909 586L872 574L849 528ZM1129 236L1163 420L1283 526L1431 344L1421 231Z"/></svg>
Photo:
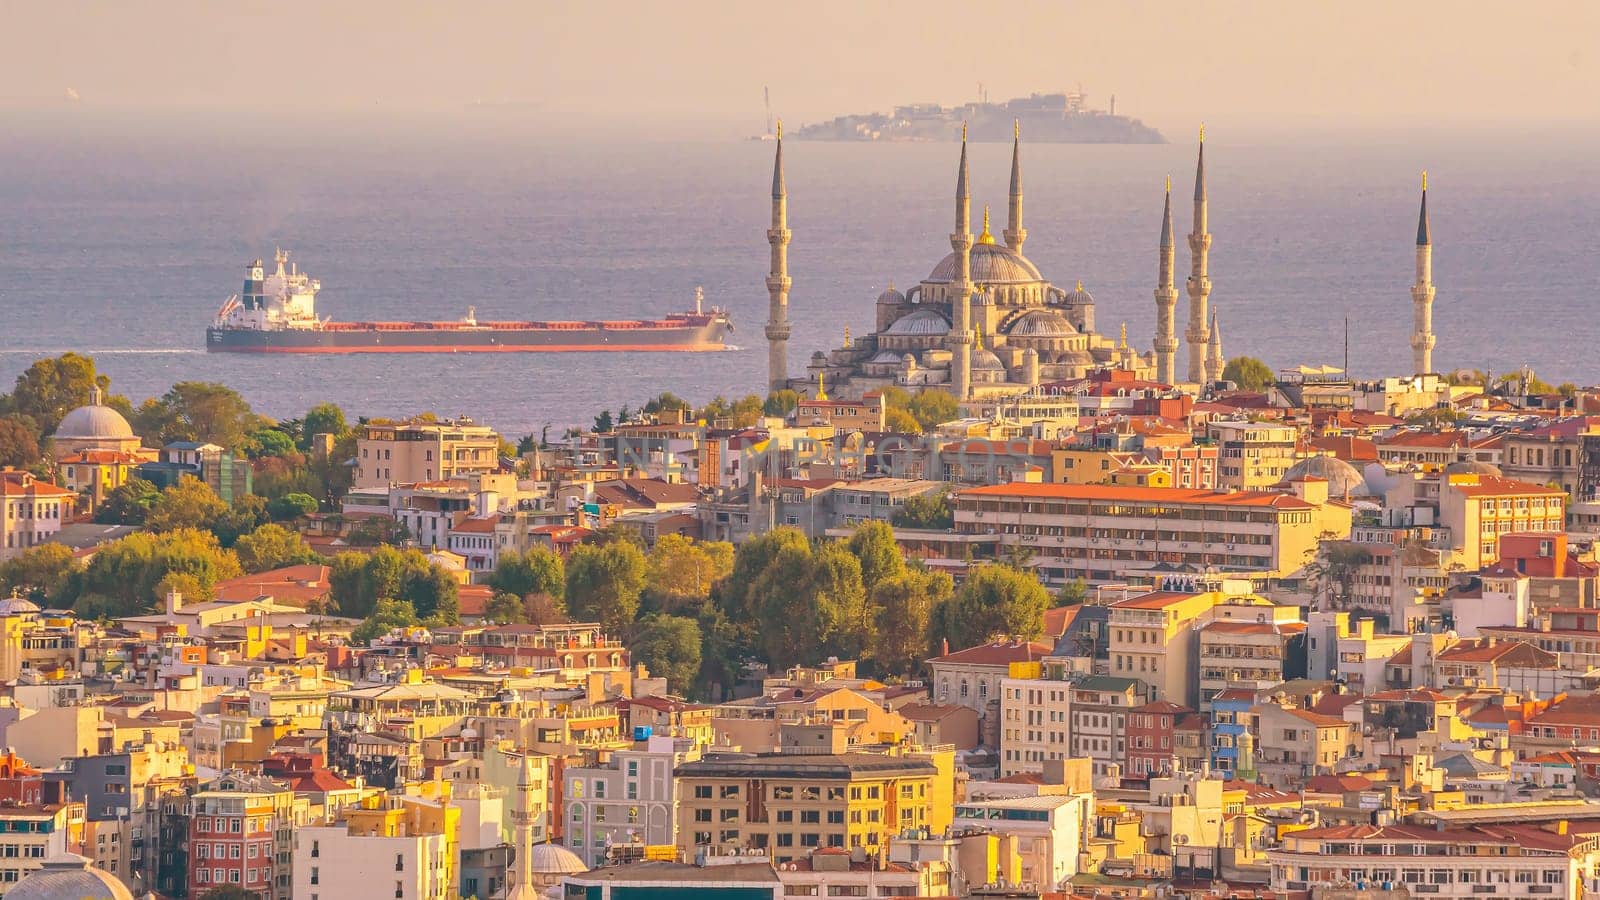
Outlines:
<svg viewBox="0 0 1600 900"><path fill-rule="evenodd" d="M357 354L357 352L706 352L726 349L726 320L608 327L402 327L334 323L323 328L206 328L210 352ZM576 327L574 327L576 325Z"/></svg>

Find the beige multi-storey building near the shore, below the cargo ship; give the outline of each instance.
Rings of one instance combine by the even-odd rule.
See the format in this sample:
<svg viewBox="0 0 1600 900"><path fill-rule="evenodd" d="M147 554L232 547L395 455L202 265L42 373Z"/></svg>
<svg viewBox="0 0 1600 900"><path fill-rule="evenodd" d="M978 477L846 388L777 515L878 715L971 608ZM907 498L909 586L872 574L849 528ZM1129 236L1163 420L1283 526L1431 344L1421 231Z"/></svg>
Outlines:
<svg viewBox="0 0 1600 900"><path fill-rule="evenodd" d="M355 442L355 488L448 480L493 472L499 434L469 418L363 426Z"/></svg>

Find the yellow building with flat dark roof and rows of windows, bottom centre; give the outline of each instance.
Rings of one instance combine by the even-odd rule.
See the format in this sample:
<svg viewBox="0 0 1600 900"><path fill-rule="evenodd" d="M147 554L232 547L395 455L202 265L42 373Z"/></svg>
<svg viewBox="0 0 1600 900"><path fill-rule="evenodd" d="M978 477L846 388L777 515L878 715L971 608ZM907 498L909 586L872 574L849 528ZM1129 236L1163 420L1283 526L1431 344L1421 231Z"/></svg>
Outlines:
<svg viewBox="0 0 1600 900"><path fill-rule="evenodd" d="M949 751L723 754L686 762L677 777L682 850L760 849L779 863L819 847L872 854L907 828L939 833L955 798Z"/></svg>

